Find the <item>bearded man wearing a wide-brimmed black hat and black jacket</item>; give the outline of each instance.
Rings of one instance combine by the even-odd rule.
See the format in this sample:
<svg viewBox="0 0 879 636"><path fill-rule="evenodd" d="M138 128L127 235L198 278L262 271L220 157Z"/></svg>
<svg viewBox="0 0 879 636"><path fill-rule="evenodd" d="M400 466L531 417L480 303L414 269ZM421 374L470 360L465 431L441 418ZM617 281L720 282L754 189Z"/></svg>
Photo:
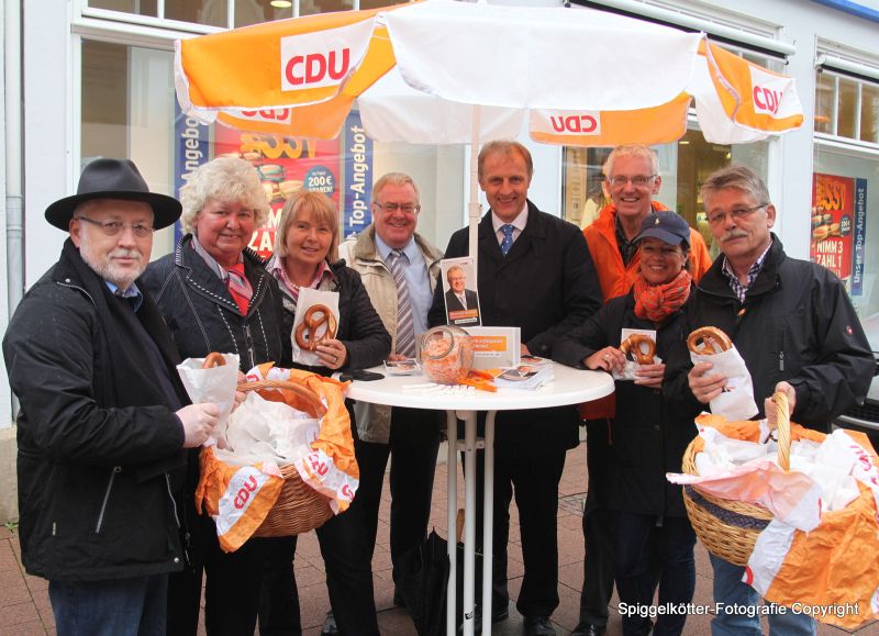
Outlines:
<svg viewBox="0 0 879 636"><path fill-rule="evenodd" d="M173 492L216 425L188 403L178 355L137 279L180 204L129 160L97 159L46 209L69 232L3 338L18 417L22 561L48 579L57 633L164 634L183 566Z"/></svg>

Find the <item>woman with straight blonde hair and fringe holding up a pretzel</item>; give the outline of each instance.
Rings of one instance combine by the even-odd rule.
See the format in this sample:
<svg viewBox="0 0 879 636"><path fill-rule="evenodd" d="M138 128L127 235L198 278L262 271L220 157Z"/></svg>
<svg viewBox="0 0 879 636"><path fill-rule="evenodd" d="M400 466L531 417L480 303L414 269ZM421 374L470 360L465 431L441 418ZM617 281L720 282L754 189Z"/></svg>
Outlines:
<svg viewBox="0 0 879 636"><path fill-rule="evenodd" d="M266 268L283 295L283 333L288 341L301 289L338 294L336 333L313 349L320 362L297 362L294 367L329 376L336 370L356 371L380 365L390 354L391 336L372 308L360 275L338 260L338 212L325 194L299 190L287 200L275 231L275 255ZM354 413L349 414L356 439ZM356 449L357 445L355 454ZM333 609L322 633L377 635L372 553L360 505L355 503L316 533Z"/></svg>

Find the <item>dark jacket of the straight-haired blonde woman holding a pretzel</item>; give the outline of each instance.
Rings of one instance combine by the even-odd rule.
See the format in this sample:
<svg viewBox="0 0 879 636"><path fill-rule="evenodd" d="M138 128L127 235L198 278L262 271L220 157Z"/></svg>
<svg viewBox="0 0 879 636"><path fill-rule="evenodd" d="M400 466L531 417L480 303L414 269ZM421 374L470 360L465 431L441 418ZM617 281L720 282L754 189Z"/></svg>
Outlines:
<svg viewBox="0 0 879 636"><path fill-rule="evenodd" d="M381 319L376 313L369 294L360 281L360 275L344 260L338 260L330 266L333 271L333 281L326 291L338 292L338 328L336 339L341 341L348 352L348 358L341 371L365 369L380 365L391 353L391 336ZM283 284L280 282L279 284ZM321 287L321 289L324 289ZM281 292L282 293L282 292ZM296 304L288 295L283 295L283 333L293 331L296 319ZM291 345L292 346L292 345ZM322 376L333 373L326 367L305 367L293 365Z"/></svg>

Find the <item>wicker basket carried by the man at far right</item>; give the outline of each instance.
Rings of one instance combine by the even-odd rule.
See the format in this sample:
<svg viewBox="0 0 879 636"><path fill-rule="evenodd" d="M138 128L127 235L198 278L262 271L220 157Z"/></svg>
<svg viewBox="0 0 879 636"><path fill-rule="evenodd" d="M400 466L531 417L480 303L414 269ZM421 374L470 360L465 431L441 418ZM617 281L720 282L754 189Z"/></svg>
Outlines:
<svg viewBox="0 0 879 636"><path fill-rule="evenodd" d="M790 413L783 393L772 395L778 409L778 464L790 469ZM696 469L696 442L683 453L682 468L688 475ZM702 492L698 487L683 488L683 505L693 531L708 551L736 566L745 566L754 551L757 535L772 521L772 513L761 505L723 499Z"/></svg>

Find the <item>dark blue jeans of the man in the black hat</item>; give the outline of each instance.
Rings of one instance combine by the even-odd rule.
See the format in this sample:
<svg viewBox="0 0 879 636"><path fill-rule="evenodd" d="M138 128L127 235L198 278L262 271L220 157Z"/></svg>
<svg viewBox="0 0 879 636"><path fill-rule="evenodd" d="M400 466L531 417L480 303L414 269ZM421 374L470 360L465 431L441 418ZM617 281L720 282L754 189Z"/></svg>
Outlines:
<svg viewBox="0 0 879 636"><path fill-rule="evenodd" d="M164 636L168 574L49 581L58 636Z"/></svg>

